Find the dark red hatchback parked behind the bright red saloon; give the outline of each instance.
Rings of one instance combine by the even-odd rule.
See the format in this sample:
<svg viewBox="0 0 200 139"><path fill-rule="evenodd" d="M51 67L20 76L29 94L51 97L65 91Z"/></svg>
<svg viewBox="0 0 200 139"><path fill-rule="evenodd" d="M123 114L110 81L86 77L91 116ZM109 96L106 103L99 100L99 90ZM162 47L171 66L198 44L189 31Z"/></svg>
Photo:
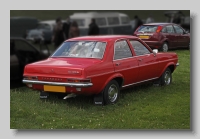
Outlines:
<svg viewBox="0 0 200 139"><path fill-rule="evenodd" d="M139 26L133 34L152 49L190 48L190 33L174 23L149 23Z"/></svg>

